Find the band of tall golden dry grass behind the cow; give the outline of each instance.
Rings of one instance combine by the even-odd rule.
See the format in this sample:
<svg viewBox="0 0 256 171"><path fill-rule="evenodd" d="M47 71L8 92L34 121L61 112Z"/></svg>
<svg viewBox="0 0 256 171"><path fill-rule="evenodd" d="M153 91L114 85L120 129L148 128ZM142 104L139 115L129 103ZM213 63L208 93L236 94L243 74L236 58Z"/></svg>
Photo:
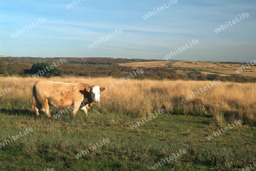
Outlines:
<svg viewBox="0 0 256 171"><path fill-rule="evenodd" d="M221 82L187 100L185 97L203 88L210 81L156 81L129 80L110 89L116 78L51 77L43 80L84 82L106 87L101 93L101 102L92 109L114 112L118 115L142 117L154 110L165 109L171 114L212 115L216 122L231 122L241 119L243 123L256 123L256 85ZM36 78L1 77L0 94L5 87L12 91L0 97L0 107L7 109L30 109L32 85ZM210 84L209 84L210 85ZM90 110L89 110L90 114Z"/></svg>

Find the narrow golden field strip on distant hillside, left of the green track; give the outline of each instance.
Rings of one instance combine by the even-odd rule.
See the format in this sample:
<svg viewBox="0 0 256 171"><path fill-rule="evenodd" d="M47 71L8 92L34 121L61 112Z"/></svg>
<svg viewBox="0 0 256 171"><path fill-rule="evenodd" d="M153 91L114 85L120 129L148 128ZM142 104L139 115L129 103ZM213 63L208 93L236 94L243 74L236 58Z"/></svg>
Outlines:
<svg viewBox="0 0 256 171"><path fill-rule="evenodd" d="M118 65L121 66L129 66L132 67L133 69L143 67L143 68L154 68L156 66L167 66L166 64L169 63L170 61L150 61L150 62L131 62L131 63L121 63Z"/></svg>

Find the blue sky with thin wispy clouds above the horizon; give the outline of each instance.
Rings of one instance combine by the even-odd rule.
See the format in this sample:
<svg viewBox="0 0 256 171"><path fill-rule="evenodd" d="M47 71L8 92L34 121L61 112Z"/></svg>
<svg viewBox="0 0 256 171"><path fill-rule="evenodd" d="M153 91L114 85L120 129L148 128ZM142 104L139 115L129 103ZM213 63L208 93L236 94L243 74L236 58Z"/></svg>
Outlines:
<svg viewBox="0 0 256 171"><path fill-rule="evenodd" d="M255 16L256 0L2 0L0 55L247 62Z"/></svg>

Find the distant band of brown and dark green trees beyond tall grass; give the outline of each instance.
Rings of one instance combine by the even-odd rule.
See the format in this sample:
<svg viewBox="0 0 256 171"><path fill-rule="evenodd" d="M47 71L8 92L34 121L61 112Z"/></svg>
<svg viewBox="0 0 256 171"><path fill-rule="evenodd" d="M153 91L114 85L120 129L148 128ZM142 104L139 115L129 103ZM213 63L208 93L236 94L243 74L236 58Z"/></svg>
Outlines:
<svg viewBox="0 0 256 171"><path fill-rule="evenodd" d="M81 77L108 77L122 78L133 73L134 68L120 66L118 63L126 62L146 62L158 60L143 59L113 59L101 57L75 58L67 57L65 64L59 65L57 68L49 70L47 66L53 65L53 62L60 61L57 58L41 58L41 57L0 57L0 74L2 76L32 76L40 73L39 70L46 72L40 76L81 76ZM47 69L48 70L47 70ZM256 82L256 78L246 78L239 76L220 76L219 74L202 74L196 69L186 68L184 74L177 73L175 68L171 66L162 66L154 68L142 68L143 74L139 74L136 78L156 79L156 80L221 80L232 82Z"/></svg>

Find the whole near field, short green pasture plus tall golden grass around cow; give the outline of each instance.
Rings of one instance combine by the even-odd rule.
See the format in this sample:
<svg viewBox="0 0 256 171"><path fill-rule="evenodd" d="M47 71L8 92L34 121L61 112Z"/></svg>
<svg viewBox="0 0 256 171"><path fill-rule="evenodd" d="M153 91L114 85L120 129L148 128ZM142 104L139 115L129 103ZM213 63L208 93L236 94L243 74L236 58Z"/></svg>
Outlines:
<svg viewBox="0 0 256 171"><path fill-rule="evenodd" d="M33 131L0 149L0 170L154 170L156 165L158 170L240 170L256 162L255 84L220 82L187 99L211 82L129 80L109 89L119 79L48 80L85 82L106 90L88 117L79 111L76 118L69 113L49 120L41 112L37 119L30 111L36 79L1 77L0 143L19 132L24 135L26 128ZM159 109L166 112L150 119ZM138 126L144 117L148 121ZM218 132L225 127L229 130ZM97 147L103 139L109 142ZM186 152L177 156L180 149Z"/></svg>

